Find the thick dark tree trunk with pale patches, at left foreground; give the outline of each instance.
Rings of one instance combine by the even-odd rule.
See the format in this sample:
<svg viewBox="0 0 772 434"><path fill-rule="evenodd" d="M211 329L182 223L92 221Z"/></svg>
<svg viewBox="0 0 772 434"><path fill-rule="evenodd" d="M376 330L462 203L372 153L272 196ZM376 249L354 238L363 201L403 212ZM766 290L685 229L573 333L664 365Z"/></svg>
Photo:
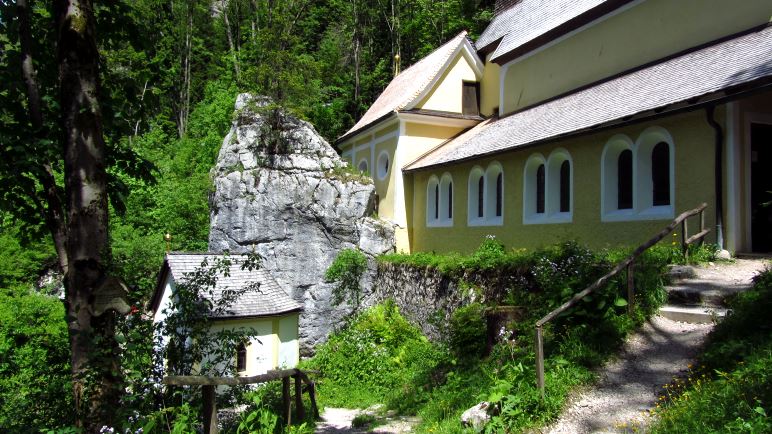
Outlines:
<svg viewBox="0 0 772 434"><path fill-rule="evenodd" d="M67 262L65 306L76 420L86 432L112 426L121 384L115 314L92 313L106 277L107 176L99 93L99 53L91 0L56 0L62 113Z"/></svg>

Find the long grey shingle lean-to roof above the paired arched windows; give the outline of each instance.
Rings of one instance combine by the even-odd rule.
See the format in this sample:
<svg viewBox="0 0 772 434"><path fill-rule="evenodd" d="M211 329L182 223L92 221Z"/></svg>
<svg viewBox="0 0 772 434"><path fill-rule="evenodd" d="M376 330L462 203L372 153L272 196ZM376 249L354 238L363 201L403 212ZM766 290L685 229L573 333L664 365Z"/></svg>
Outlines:
<svg viewBox="0 0 772 434"><path fill-rule="evenodd" d="M416 170L555 139L772 76L772 27L486 121L407 165Z"/></svg>

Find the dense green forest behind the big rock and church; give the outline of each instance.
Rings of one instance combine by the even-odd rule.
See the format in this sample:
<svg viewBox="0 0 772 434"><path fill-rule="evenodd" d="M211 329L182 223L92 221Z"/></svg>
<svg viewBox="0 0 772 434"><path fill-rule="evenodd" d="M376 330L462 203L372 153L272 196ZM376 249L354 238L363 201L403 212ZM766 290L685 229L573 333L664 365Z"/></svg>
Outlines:
<svg viewBox="0 0 772 434"><path fill-rule="evenodd" d="M60 425L68 344L58 261L36 203L46 162L63 189L56 26L29 1L44 124L29 116L17 2L0 0L0 427ZM107 145L111 275L143 306L165 251L202 251L209 170L240 92L268 95L333 141L393 77L493 0L111 0L97 2L99 101ZM52 405L53 399L58 399ZM25 425L18 425L25 426Z"/></svg>

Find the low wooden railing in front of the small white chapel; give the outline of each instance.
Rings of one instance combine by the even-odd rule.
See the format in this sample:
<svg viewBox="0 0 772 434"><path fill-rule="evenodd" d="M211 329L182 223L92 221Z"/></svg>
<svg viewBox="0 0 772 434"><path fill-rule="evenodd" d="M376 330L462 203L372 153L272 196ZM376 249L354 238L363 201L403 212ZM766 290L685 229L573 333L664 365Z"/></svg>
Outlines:
<svg viewBox="0 0 772 434"><path fill-rule="evenodd" d="M237 386L244 384L266 383L273 380L282 380L282 407L287 425L291 422L290 378L295 379L295 409L299 419L305 418L303 408L302 385L306 383L308 397L311 399L311 410L314 417L319 417L319 408L316 405L316 385L308 374L316 374L317 371L301 371L300 369L281 369L268 371L265 374L250 377L212 377L207 375L170 375L164 377L163 383L169 386L201 386L203 394L204 433L217 433L217 404L215 396L216 386Z"/></svg>

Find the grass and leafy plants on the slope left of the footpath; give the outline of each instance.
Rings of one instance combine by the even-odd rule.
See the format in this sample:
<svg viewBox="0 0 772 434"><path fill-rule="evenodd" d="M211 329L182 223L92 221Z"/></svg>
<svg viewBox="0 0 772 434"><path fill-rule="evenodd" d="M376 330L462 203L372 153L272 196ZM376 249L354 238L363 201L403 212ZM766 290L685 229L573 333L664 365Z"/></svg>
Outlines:
<svg viewBox="0 0 772 434"><path fill-rule="evenodd" d="M627 251L591 252L564 243L536 252L506 250L486 239L471 255L389 255L384 263L434 268L466 279L491 304L528 306L527 318L508 325L490 354L482 306L458 309L444 342L433 343L399 314L393 303L354 318L318 348L306 368L322 372L319 399L326 405L365 408L384 403L400 414L420 416L418 432L466 432L461 413L489 401L495 416L488 432L518 432L557 417L569 391L594 380L593 369L622 345L627 333L664 301L660 275L668 248L647 253L637 264L638 299L626 314L626 277L611 282L545 328L546 399L535 385L533 323L605 273ZM487 295L491 295L488 297Z"/></svg>

